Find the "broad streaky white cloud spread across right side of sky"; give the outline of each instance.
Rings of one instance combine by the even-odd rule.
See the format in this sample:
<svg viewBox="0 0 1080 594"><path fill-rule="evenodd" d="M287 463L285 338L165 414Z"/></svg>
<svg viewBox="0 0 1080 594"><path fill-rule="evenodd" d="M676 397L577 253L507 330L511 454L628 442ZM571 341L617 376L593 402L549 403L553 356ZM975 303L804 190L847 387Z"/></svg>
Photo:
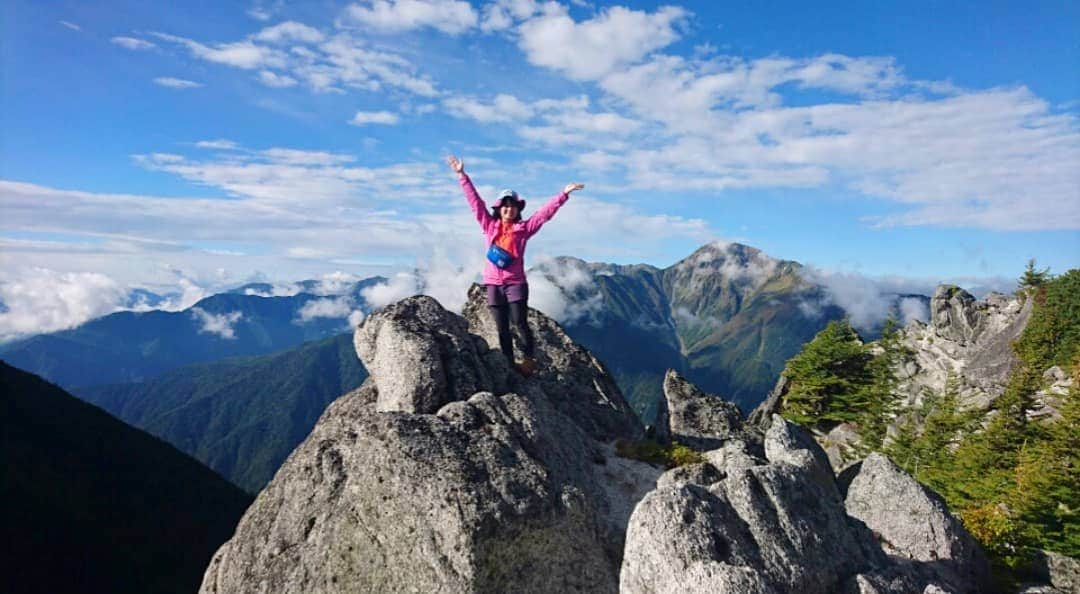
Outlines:
<svg viewBox="0 0 1080 594"><path fill-rule="evenodd" d="M785 107L792 83L850 98ZM626 154L634 188L846 187L906 205L875 225L1080 228L1078 119L1024 87L927 97L891 58L835 54L657 56L600 86L670 133Z"/></svg>

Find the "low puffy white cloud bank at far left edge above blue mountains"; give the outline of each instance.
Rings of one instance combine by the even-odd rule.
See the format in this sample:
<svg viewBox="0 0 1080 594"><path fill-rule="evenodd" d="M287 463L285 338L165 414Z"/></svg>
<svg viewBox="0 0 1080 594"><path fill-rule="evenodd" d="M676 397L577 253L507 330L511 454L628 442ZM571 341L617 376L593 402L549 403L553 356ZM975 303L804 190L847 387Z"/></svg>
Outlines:
<svg viewBox="0 0 1080 594"><path fill-rule="evenodd" d="M76 327L118 310L127 288L96 272L45 268L9 270L0 276L0 342Z"/></svg>

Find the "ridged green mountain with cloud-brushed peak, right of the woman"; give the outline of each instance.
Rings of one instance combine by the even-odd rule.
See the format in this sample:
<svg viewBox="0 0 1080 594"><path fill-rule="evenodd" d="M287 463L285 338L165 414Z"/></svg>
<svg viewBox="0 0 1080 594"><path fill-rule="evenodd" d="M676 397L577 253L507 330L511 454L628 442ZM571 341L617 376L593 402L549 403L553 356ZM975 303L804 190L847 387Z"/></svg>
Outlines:
<svg viewBox="0 0 1080 594"><path fill-rule="evenodd" d="M801 269L713 243L663 269L557 258L536 272L581 312L565 322L568 334L608 365L650 421L669 368L744 410L764 400L787 359L843 315Z"/></svg>

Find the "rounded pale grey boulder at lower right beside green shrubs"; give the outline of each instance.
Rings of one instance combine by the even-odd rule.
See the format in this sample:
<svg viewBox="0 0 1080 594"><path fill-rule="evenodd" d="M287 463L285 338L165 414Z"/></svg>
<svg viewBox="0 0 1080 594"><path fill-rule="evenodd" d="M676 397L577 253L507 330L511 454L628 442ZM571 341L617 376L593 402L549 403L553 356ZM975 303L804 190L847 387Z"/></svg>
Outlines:
<svg viewBox="0 0 1080 594"><path fill-rule="evenodd" d="M920 562L957 593L983 592L983 550L936 494L880 454L853 469L845 508L878 535L890 555Z"/></svg>

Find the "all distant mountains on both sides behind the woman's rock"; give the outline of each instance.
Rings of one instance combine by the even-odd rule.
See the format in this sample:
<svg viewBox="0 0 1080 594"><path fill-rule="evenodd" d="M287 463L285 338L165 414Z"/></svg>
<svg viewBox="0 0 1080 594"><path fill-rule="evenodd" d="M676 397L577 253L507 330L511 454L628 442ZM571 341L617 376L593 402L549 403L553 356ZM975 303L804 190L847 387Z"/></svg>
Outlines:
<svg viewBox="0 0 1080 594"><path fill-rule="evenodd" d="M787 359L843 311L798 262L708 244L669 268L557 258L532 270L562 292L564 326L604 361L647 422L667 369L750 410ZM119 312L0 348L0 357L258 491L325 406L366 372L345 315L373 278L327 295L252 283L180 312ZM809 305L809 307L808 307ZM305 315L318 312L323 315ZM213 332L212 332L213 330Z"/></svg>

